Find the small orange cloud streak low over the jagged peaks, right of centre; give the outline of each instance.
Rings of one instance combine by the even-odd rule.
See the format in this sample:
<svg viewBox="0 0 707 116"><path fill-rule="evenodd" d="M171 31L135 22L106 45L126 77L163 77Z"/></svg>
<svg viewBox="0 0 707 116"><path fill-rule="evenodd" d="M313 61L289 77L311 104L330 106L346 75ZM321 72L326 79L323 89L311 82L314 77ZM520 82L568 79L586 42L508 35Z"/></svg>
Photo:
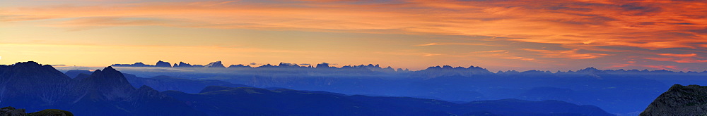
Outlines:
<svg viewBox="0 0 707 116"><path fill-rule="evenodd" d="M579 49L573 49L569 51L551 51L551 50L539 50L539 49L522 49L525 51L539 52L544 58L570 58L570 59L591 59L600 58L603 56L609 56L609 54L604 53L578 53Z"/></svg>

